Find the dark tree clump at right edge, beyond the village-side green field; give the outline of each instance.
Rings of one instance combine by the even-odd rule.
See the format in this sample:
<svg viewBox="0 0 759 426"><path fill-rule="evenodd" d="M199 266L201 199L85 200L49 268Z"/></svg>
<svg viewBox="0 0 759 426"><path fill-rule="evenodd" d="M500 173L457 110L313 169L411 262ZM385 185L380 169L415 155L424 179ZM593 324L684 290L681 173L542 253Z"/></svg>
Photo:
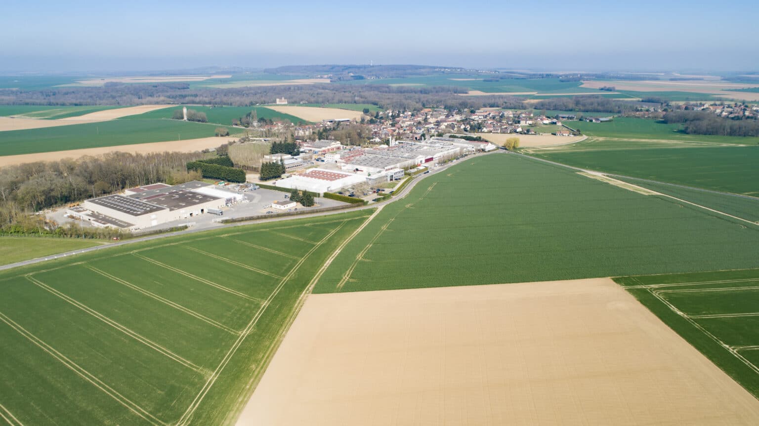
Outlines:
<svg viewBox="0 0 759 426"><path fill-rule="evenodd" d="M707 111L669 111L665 123L682 124L682 130L694 135L759 136L759 121L731 120Z"/></svg>

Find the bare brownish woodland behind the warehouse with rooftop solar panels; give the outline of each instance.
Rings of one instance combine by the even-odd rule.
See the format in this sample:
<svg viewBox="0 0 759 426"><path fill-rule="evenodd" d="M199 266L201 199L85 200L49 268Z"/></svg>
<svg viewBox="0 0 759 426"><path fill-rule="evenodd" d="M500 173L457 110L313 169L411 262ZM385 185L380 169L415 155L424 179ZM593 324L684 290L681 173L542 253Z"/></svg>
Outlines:
<svg viewBox="0 0 759 426"><path fill-rule="evenodd" d="M187 161L199 152L162 152L150 155L110 152L77 160L39 161L0 168L0 232L43 233L55 230L34 211L125 188L165 182L170 185L200 179L188 172ZM14 228L15 226L15 228Z"/></svg>

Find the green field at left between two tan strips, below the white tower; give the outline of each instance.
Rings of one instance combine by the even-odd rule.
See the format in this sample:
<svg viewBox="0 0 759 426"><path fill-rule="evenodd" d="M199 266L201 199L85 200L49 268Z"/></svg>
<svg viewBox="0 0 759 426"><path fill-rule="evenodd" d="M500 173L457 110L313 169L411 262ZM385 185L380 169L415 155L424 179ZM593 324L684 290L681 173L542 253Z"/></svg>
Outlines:
<svg viewBox="0 0 759 426"><path fill-rule="evenodd" d="M102 123L0 132L0 155L165 142L213 136L217 124L178 120L112 120ZM239 128L227 127L230 133Z"/></svg>

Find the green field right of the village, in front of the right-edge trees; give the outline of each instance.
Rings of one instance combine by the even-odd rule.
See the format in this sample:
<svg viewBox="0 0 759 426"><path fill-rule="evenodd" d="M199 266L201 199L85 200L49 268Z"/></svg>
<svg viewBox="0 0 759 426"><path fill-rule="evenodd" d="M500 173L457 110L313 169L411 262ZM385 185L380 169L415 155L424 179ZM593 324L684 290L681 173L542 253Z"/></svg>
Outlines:
<svg viewBox="0 0 759 426"><path fill-rule="evenodd" d="M665 124L647 118L615 118L606 123L572 121L567 123L573 129L581 130L584 135L612 137L622 139L672 139L693 140L712 143L735 143L745 145L759 144L757 137L689 135L680 131L679 124Z"/></svg>

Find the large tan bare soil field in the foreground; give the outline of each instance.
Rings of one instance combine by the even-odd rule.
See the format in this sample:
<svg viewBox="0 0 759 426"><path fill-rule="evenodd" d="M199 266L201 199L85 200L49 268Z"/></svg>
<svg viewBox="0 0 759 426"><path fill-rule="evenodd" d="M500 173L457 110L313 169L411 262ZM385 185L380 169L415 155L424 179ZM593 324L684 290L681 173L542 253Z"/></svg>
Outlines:
<svg viewBox="0 0 759 426"><path fill-rule="evenodd" d="M309 296L238 425L759 423L607 278Z"/></svg>

